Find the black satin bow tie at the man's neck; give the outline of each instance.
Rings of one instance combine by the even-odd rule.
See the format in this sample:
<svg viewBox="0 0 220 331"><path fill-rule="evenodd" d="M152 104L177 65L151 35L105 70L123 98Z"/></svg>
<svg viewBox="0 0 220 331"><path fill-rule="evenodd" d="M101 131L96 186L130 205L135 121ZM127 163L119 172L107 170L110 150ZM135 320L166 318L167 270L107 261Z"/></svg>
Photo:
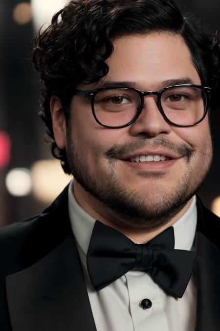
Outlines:
<svg viewBox="0 0 220 331"><path fill-rule="evenodd" d="M146 244L135 244L124 234L95 222L87 267L91 284L100 290L130 270L145 271L170 294L181 298L190 280L197 253L174 249L170 227Z"/></svg>

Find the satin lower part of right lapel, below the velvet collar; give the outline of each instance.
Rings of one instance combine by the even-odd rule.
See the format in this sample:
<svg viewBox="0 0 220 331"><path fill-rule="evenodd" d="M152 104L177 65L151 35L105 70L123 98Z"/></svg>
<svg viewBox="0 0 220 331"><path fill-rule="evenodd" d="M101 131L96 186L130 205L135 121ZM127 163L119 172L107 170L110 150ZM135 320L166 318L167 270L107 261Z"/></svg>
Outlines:
<svg viewBox="0 0 220 331"><path fill-rule="evenodd" d="M220 330L220 250L197 232L197 321L195 331Z"/></svg>

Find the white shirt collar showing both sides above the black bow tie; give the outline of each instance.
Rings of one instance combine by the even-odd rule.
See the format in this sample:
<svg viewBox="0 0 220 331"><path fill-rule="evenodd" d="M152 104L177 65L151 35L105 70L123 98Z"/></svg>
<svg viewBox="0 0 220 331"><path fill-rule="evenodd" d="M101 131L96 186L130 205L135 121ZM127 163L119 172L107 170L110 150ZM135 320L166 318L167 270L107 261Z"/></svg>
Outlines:
<svg viewBox="0 0 220 331"><path fill-rule="evenodd" d="M89 241L95 225L91 217L76 201L73 194L73 181L68 189L68 211L73 235L83 262L86 262ZM173 225L175 233L175 249L191 250L197 226L196 196L187 211Z"/></svg>

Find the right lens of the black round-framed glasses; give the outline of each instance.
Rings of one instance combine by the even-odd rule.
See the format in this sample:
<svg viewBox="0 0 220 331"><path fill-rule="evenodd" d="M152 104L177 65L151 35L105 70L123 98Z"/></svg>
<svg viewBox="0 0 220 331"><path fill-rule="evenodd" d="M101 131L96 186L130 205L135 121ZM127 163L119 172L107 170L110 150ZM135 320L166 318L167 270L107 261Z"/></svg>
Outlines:
<svg viewBox="0 0 220 331"><path fill-rule="evenodd" d="M197 123L202 119L207 105L204 91L192 86L166 89L160 103L168 120L177 125Z"/></svg>

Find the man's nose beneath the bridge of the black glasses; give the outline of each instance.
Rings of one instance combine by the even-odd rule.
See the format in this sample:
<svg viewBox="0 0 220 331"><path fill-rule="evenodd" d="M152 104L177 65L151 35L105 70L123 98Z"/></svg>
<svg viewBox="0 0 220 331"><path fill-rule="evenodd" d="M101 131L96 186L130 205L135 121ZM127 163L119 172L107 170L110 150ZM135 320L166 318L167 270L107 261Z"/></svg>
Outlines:
<svg viewBox="0 0 220 331"><path fill-rule="evenodd" d="M156 96L144 97L143 109L136 121L130 126L130 134L133 136L144 134L154 137L160 133L168 134L171 130L170 124L165 121L157 107Z"/></svg>

